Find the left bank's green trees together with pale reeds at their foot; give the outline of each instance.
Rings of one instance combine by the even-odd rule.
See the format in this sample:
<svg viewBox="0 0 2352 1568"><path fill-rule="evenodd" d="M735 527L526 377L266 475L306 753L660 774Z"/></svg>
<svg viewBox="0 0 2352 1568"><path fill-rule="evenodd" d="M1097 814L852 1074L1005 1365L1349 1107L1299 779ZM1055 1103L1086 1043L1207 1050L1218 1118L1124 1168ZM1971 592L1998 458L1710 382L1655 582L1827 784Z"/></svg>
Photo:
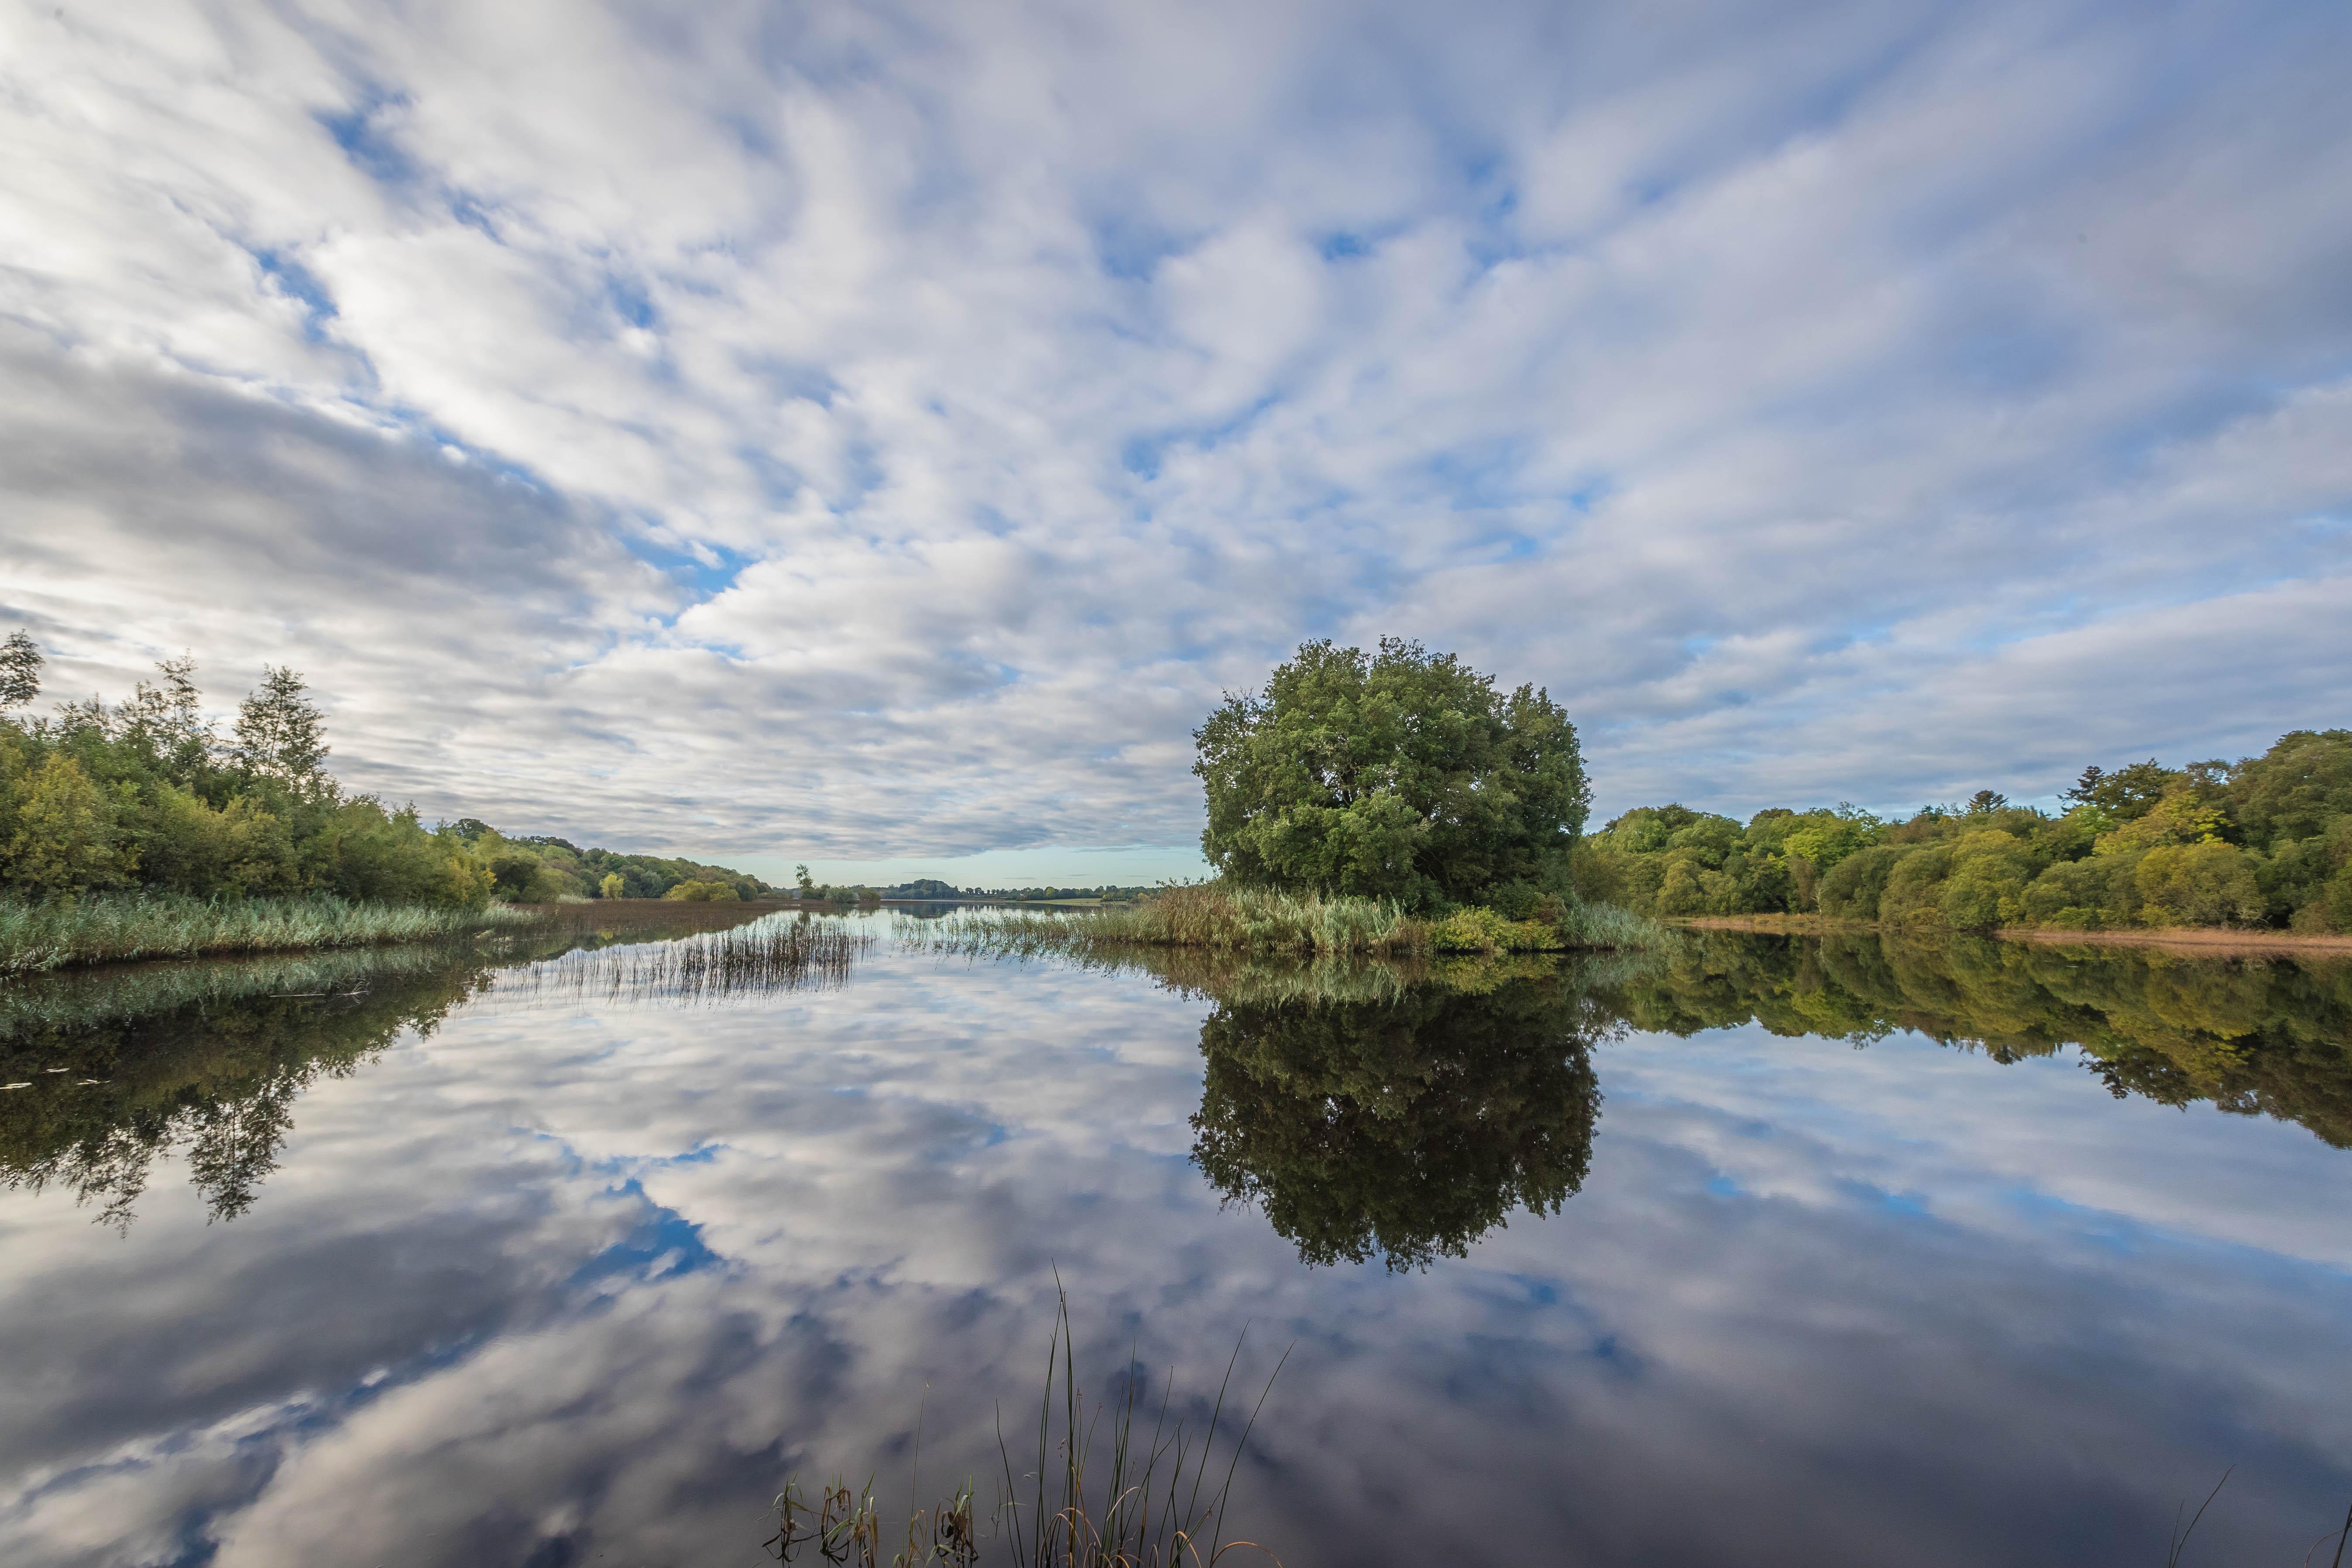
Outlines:
<svg viewBox="0 0 2352 1568"><path fill-rule="evenodd" d="M348 792L294 670L268 670L221 736L191 658L122 703L33 719L40 668L24 632L0 642L0 973L430 940L510 919L496 900L771 891L473 818L426 827L414 806Z"/></svg>

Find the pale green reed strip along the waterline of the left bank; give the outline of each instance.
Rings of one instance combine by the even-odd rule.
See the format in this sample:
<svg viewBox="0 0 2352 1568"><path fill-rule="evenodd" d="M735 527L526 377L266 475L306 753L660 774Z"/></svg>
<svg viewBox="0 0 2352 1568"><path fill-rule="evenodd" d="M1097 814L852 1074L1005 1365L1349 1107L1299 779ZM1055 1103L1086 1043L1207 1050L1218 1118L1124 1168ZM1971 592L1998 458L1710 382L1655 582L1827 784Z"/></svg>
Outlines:
<svg viewBox="0 0 2352 1568"><path fill-rule="evenodd" d="M421 943L522 926L532 919L532 914L508 905L454 910L329 896L85 893L42 903L0 898L0 976L127 959Z"/></svg>

